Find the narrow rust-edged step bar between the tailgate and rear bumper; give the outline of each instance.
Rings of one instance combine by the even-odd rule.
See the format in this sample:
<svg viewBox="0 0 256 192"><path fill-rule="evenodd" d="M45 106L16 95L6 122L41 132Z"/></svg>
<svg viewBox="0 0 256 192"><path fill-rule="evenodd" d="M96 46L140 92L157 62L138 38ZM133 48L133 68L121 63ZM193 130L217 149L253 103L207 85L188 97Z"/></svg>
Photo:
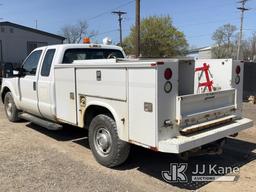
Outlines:
<svg viewBox="0 0 256 192"><path fill-rule="evenodd" d="M209 129L215 126L220 126L222 124L227 124L233 121L235 118L235 115L230 115L227 117L219 118L219 119L214 119L212 121L192 125L190 127L186 127L180 131L181 135L189 135L204 129Z"/></svg>

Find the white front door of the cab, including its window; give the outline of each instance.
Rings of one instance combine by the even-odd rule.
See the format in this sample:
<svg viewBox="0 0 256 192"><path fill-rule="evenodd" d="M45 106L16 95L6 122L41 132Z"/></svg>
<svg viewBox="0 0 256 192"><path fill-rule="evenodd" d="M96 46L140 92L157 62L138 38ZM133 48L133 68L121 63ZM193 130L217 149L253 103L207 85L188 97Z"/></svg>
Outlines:
<svg viewBox="0 0 256 192"><path fill-rule="evenodd" d="M22 65L23 77L19 79L21 107L24 111L41 116L37 99L38 65L42 58L42 50L36 50L29 55Z"/></svg>

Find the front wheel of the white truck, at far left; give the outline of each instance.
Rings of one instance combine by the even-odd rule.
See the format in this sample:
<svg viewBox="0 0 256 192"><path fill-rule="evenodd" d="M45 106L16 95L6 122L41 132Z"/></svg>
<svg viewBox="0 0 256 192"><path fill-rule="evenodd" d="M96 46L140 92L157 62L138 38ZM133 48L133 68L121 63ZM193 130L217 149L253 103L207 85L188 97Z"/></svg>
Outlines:
<svg viewBox="0 0 256 192"><path fill-rule="evenodd" d="M11 92L7 92L4 97L4 109L5 114L9 121L11 122L18 122L20 120L19 118L19 110L17 109L13 96Z"/></svg>

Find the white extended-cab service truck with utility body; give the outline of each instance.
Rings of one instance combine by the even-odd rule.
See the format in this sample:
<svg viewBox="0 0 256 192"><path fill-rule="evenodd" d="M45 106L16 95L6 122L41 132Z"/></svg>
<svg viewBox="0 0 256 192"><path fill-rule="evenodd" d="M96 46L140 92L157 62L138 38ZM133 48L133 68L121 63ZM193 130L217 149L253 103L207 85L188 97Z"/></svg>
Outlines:
<svg viewBox="0 0 256 192"><path fill-rule="evenodd" d="M243 63L127 59L120 47L66 44L35 49L17 71L6 64L8 119L48 129L89 129L96 160L123 163L130 144L188 154L252 126L242 117Z"/></svg>

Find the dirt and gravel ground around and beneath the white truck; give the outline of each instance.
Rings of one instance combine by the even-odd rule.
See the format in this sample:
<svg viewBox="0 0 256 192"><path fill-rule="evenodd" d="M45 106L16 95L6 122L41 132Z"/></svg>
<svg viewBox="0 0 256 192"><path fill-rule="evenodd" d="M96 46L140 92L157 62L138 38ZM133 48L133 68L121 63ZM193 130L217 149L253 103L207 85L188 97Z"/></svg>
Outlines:
<svg viewBox="0 0 256 192"><path fill-rule="evenodd" d="M244 115L256 120L256 105L244 104ZM0 105L0 191L255 191L256 128L229 138L224 154L193 157L187 163L239 167L235 182L170 184L162 171L181 163L175 155L133 146L128 161L117 169L94 160L87 131L67 127L48 131L28 122L10 123Z"/></svg>

